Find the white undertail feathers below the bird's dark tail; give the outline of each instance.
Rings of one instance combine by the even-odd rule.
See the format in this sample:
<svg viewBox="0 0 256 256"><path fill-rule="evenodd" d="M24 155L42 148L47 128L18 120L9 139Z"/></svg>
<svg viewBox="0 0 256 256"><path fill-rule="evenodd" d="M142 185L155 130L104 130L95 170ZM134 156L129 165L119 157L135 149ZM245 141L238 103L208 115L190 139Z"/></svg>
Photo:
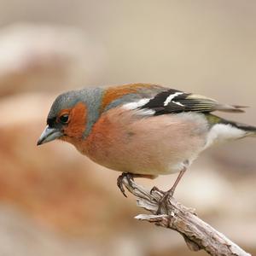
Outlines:
<svg viewBox="0 0 256 256"><path fill-rule="evenodd" d="M208 148L212 143L221 143L226 140L238 139L245 137L247 131L242 131L232 125L217 124L213 125L207 136L207 144L205 148Z"/></svg>

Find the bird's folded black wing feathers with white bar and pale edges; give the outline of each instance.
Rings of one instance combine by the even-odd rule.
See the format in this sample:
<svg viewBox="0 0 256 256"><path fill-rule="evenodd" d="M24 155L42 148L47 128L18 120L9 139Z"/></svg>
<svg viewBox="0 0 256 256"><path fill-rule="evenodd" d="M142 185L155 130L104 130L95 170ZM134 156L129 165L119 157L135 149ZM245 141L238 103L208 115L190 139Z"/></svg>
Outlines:
<svg viewBox="0 0 256 256"><path fill-rule="evenodd" d="M154 115L164 113L181 113L181 112L201 112L210 113L212 111L224 112L243 112L241 106L230 106L220 104L219 102L207 98L206 96L199 96L191 93L185 93L180 90L165 90L154 98L150 99L141 109L154 110Z"/></svg>

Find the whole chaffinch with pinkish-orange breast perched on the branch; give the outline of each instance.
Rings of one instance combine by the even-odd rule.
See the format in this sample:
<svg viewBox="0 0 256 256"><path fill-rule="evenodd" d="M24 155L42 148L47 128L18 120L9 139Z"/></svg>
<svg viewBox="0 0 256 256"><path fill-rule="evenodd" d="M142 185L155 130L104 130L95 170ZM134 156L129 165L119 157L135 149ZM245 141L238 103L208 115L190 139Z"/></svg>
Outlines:
<svg viewBox="0 0 256 256"><path fill-rule="evenodd" d="M124 195L125 177L130 183L134 177L178 172L172 188L161 191L160 213L202 151L216 143L256 137L255 126L212 113L242 113L244 108L158 84L70 90L53 102L38 145L59 139L97 164L122 172L117 183Z"/></svg>

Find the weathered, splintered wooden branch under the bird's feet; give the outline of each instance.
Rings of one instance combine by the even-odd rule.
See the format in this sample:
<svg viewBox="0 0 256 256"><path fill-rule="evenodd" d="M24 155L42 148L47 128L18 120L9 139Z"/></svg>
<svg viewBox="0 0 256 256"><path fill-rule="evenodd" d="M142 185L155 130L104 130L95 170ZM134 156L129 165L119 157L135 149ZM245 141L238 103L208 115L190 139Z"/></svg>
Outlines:
<svg viewBox="0 0 256 256"><path fill-rule="evenodd" d="M158 202L162 196L159 191L154 190L150 194L147 189L144 189L134 181L130 180L128 182L126 177L123 183L126 189L136 196L137 206L152 213L140 214L136 218L167 229L176 230L183 236L190 250L199 251L203 249L214 256L251 255L243 251L241 247L238 247L226 236L214 230L209 224L202 221L201 218L198 218L195 214L195 209L184 207L174 198L171 198L170 204L165 209L161 209L160 215L156 215Z"/></svg>

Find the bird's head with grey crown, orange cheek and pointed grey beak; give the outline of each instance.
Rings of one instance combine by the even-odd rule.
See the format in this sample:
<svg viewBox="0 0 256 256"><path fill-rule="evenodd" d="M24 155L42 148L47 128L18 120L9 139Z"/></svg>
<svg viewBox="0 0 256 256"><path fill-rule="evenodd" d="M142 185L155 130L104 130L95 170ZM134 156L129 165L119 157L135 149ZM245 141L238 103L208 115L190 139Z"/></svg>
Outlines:
<svg viewBox="0 0 256 256"><path fill-rule="evenodd" d="M87 123L87 107L81 90L68 91L55 99L47 117L47 126L38 145L55 139L80 139Z"/></svg>

